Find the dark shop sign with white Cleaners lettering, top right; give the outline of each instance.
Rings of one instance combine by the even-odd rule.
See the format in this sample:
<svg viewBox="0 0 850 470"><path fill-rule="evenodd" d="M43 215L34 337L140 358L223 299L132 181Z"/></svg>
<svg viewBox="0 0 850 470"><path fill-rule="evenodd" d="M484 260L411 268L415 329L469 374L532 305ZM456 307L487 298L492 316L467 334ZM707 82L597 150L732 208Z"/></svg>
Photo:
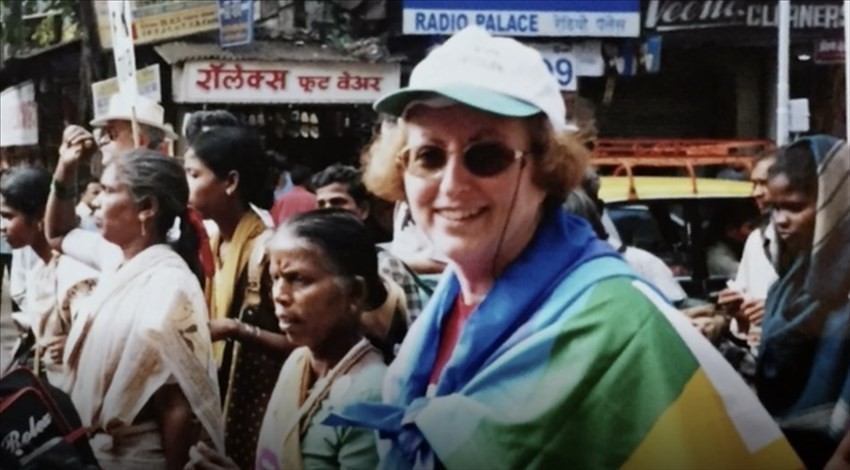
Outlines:
<svg viewBox="0 0 850 470"><path fill-rule="evenodd" d="M653 31L705 28L776 28L777 2L770 0L650 0L644 27ZM840 1L791 3L791 28L842 29Z"/></svg>

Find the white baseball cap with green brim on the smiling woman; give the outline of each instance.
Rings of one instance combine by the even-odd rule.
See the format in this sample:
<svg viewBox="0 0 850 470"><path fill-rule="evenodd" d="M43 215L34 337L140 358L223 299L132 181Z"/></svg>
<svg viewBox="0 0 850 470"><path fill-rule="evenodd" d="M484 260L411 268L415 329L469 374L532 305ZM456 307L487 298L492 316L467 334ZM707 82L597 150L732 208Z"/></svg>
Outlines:
<svg viewBox="0 0 850 470"><path fill-rule="evenodd" d="M567 124L558 81L535 49L468 26L416 65L406 88L383 96L375 110L402 116L408 105L434 95L501 116L545 113L556 131Z"/></svg>

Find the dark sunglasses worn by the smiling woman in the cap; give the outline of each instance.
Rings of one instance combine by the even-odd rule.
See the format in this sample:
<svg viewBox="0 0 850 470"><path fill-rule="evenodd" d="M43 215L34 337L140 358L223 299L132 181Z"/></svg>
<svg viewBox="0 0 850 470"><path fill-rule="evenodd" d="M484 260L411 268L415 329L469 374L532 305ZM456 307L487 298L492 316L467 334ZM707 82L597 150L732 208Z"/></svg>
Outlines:
<svg viewBox="0 0 850 470"><path fill-rule="evenodd" d="M476 142L463 150L463 166L475 176L489 178L507 170L529 152L512 149L499 142ZM419 178L437 178L449 160L449 152L437 145L408 147L398 161L409 174Z"/></svg>

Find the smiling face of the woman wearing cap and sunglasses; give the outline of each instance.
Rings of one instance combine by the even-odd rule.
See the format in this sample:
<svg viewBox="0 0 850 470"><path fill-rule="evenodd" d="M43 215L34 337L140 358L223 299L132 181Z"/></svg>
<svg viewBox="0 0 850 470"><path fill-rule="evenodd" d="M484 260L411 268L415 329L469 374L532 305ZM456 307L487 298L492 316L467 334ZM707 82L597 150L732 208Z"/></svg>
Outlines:
<svg viewBox="0 0 850 470"><path fill-rule="evenodd" d="M523 122L460 105L423 106L406 122L409 156L425 146L447 154L441 174L433 178L417 176L410 168L404 174L413 219L434 248L459 265L488 268L497 255L518 254L536 229L545 198L532 182L528 157L495 175L478 176L465 166L464 152L476 143L527 151Z"/></svg>

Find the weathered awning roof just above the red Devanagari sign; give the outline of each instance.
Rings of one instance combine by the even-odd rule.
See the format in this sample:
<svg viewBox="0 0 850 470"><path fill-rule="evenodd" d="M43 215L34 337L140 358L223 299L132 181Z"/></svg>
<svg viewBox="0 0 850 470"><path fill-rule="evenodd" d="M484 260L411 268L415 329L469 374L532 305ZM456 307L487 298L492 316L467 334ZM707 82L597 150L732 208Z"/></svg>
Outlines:
<svg viewBox="0 0 850 470"><path fill-rule="evenodd" d="M345 53L316 44L281 41L255 41L245 46L229 49L223 49L216 43L176 41L160 44L154 49L169 65L197 60L337 63L401 61L400 57L387 57L382 53L380 46L377 45L359 48L355 53Z"/></svg>

